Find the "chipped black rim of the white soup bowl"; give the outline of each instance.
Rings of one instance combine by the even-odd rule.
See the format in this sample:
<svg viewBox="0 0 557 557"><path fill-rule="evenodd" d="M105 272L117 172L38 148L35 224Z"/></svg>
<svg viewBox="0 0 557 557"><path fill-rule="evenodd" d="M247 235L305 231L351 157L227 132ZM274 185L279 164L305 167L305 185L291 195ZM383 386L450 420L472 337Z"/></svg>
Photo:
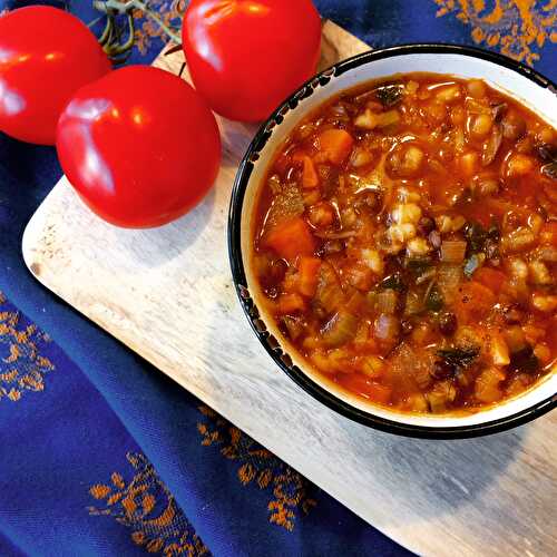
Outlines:
<svg viewBox="0 0 557 557"><path fill-rule="evenodd" d="M302 87L300 87L300 89L291 95L260 127L238 167L238 172L236 174L232 190L228 213L228 257L231 262L232 275L242 309L244 310L244 313L246 314L250 324L261 344L265 348L267 353L281 368L281 370L284 371L286 375L289 375L299 387L311 394L315 400L339 412L340 414L354 420L355 422L388 433L395 433L404 437L422 439L465 439L487 436L506 431L517 426L521 426L555 409L557 407L557 393L554 393L549 398L537 402L515 414L489 422L477 423L473 426L414 426L381 418L377 414L373 414L371 411L368 412L344 402L340 398L335 397L332 392L328 391L315 381L313 381L296 365L286 364L284 361L284 355L286 355L287 359L290 359L290 356L283 352L276 339L274 339L261 326L262 322L260 320L260 312L255 306L255 303L253 302L247 289L247 280L244 270L241 246L242 207L247 184L254 168L254 163L258 158L258 153L264 148L267 140L271 138L273 128L282 124L283 116L291 109L294 109L300 100L312 95L317 87L325 86L331 80L331 78L339 77L345 71L367 65L374 60L413 53L451 53L480 58L498 66L504 66L508 69L511 69L530 79L538 86L547 88L551 92L557 95L557 86L550 79L546 78L538 71L504 55L468 46L447 43L401 45L379 50L370 50L331 66L329 69L325 69L321 74L317 74L312 79L306 81Z"/></svg>

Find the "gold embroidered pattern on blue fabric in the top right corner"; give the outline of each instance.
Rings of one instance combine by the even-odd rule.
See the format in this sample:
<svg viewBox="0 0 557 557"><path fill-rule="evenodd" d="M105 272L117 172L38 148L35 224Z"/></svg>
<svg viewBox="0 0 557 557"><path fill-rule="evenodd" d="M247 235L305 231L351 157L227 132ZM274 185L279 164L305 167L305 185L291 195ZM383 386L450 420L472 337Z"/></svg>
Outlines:
<svg viewBox="0 0 557 557"><path fill-rule="evenodd" d="M437 17L453 13L472 27L477 45L534 65L546 41L557 42L557 0L434 0Z"/></svg>

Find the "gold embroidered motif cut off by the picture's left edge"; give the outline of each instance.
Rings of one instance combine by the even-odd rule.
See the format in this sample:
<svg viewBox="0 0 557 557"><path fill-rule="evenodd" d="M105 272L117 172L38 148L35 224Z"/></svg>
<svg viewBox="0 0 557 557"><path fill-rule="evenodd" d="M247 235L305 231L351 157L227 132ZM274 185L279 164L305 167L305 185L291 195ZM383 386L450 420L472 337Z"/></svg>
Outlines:
<svg viewBox="0 0 557 557"><path fill-rule="evenodd" d="M47 334L36 325L22 325L18 312L7 307L0 293L0 403L2 399L17 402L29 391L45 390L45 375L55 369L40 355Z"/></svg>

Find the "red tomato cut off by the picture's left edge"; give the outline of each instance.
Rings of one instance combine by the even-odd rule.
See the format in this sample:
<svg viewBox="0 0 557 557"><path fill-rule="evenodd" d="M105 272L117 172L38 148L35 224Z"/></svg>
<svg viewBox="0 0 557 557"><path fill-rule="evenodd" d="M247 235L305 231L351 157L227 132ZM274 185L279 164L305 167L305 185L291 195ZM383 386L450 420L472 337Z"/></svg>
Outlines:
<svg viewBox="0 0 557 557"><path fill-rule="evenodd" d="M91 31L63 10L32 6L0 17L0 131L53 145L68 99L110 69Z"/></svg>

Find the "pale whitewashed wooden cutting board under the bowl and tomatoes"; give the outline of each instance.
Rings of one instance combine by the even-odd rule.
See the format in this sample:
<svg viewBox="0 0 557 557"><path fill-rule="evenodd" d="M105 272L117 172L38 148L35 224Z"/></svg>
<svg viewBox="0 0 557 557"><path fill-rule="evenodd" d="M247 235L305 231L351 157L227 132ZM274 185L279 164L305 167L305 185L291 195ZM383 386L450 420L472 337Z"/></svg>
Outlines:
<svg viewBox="0 0 557 557"><path fill-rule="evenodd" d="M323 33L322 66L368 48L331 22ZM177 72L182 62L155 65ZM62 178L23 237L35 276L409 549L555 555L557 413L485 439L404 439L338 416L272 362L236 300L226 247L231 188L255 129L219 126L215 188L164 228L114 228Z"/></svg>

